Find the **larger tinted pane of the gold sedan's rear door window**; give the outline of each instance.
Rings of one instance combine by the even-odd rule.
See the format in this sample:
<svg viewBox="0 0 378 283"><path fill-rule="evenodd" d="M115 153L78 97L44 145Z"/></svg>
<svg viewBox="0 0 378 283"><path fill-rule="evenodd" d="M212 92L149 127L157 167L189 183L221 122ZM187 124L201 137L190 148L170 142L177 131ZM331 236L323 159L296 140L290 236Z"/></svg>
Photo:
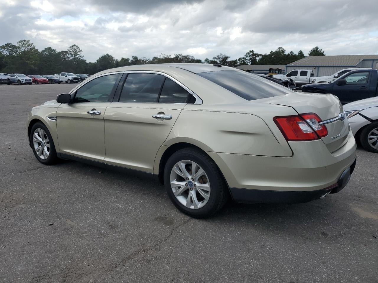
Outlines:
<svg viewBox="0 0 378 283"><path fill-rule="evenodd" d="M149 73L127 75L119 102L154 103L158 102L164 76Z"/></svg>

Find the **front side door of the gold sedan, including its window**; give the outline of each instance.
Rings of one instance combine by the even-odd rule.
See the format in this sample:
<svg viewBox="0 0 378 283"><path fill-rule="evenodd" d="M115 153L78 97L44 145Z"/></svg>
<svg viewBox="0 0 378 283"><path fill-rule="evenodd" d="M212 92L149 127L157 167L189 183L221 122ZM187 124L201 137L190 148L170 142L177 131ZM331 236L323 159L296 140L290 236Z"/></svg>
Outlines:
<svg viewBox="0 0 378 283"><path fill-rule="evenodd" d="M62 157L104 162L104 114L121 76L116 72L96 77L71 92L72 103L59 105L57 135Z"/></svg>

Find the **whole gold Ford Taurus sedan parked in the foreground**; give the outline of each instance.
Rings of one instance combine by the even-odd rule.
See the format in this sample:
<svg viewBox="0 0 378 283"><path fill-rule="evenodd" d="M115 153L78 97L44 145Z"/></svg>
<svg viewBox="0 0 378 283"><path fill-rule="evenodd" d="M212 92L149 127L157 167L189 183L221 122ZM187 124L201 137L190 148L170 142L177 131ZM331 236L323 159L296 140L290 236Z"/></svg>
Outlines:
<svg viewBox="0 0 378 283"><path fill-rule="evenodd" d="M99 72L34 107L37 160L82 161L156 178L182 212L298 203L339 192L356 143L338 98L303 94L226 66L164 64Z"/></svg>

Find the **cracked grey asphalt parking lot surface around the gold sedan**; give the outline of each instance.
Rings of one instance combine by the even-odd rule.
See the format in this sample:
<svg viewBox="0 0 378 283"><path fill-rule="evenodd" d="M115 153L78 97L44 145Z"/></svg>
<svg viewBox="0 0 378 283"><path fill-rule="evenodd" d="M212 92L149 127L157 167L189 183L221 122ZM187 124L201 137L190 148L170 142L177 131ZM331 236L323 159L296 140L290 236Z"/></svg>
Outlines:
<svg viewBox="0 0 378 283"><path fill-rule="evenodd" d="M378 282L377 154L324 199L193 219L158 183L36 160L29 110L74 86L0 86L0 282Z"/></svg>

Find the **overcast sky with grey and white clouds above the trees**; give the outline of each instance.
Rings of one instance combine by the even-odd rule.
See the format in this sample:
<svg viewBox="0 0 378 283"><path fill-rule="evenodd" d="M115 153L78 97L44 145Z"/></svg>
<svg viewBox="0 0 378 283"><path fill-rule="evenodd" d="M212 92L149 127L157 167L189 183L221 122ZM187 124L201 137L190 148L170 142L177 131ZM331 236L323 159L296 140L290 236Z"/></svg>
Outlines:
<svg viewBox="0 0 378 283"><path fill-rule="evenodd" d="M253 49L327 55L378 54L378 0L6 0L0 45L31 40L58 51L72 44L95 61L191 54L232 59Z"/></svg>

